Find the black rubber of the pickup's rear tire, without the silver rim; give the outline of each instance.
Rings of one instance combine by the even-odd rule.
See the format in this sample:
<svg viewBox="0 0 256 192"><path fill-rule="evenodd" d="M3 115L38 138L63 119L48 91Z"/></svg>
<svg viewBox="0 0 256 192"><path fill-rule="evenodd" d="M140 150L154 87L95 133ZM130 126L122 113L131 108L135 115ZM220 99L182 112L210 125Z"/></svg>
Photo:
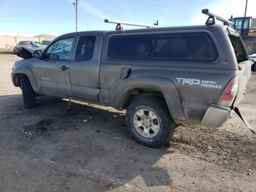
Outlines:
<svg viewBox="0 0 256 192"><path fill-rule="evenodd" d="M151 110L159 119L160 128L154 137L144 137L134 127L134 115L142 108ZM166 102L162 98L155 96L148 96L133 100L126 110L126 125L128 126L130 135L136 142L152 148L162 146L168 142L177 127L176 122L172 120Z"/></svg>

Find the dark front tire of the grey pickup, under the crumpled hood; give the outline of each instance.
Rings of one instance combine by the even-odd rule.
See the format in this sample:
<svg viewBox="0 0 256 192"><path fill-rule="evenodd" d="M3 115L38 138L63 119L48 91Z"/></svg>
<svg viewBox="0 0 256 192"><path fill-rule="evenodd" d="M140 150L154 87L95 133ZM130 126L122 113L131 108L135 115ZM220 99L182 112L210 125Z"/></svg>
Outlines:
<svg viewBox="0 0 256 192"><path fill-rule="evenodd" d="M36 93L34 92L27 76L20 78L22 97L25 108L33 108L36 106Z"/></svg>

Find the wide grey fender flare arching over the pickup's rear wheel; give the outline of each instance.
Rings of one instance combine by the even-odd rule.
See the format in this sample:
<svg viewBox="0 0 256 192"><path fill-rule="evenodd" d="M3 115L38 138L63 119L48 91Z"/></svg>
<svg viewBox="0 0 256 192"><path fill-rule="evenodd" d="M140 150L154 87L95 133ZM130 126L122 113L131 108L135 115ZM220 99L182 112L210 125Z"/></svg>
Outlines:
<svg viewBox="0 0 256 192"><path fill-rule="evenodd" d="M122 110L124 98L132 89L148 88L162 92L173 120L186 120L177 88L170 79L150 76L139 76L124 80L116 89L112 103Z"/></svg>

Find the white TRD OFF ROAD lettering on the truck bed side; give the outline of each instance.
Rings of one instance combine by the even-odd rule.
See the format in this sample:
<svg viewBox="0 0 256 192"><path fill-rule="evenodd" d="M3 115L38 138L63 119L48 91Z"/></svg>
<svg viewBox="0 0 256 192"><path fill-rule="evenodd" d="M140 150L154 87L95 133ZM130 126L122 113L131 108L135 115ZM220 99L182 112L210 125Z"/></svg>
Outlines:
<svg viewBox="0 0 256 192"><path fill-rule="evenodd" d="M199 80L199 79L188 79L188 78L180 78L176 77L178 83L181 84L189 84L189 85L199 85L202 87L210 87L220 89L221 86L217 85L216 81L208 81L208 80Z"/></svg>

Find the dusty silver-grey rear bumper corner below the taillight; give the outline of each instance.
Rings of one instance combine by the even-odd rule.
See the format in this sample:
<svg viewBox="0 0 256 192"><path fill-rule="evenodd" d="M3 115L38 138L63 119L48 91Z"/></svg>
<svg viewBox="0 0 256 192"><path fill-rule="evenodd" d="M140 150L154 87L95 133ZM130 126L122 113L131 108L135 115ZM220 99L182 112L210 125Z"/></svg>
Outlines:
<svg viewBox="0 0 256 192"><path fill-rule="evenodd" d="M221 127L230 118L231 109L212 104L204 114L201 125L209 127Z"/></svg>

